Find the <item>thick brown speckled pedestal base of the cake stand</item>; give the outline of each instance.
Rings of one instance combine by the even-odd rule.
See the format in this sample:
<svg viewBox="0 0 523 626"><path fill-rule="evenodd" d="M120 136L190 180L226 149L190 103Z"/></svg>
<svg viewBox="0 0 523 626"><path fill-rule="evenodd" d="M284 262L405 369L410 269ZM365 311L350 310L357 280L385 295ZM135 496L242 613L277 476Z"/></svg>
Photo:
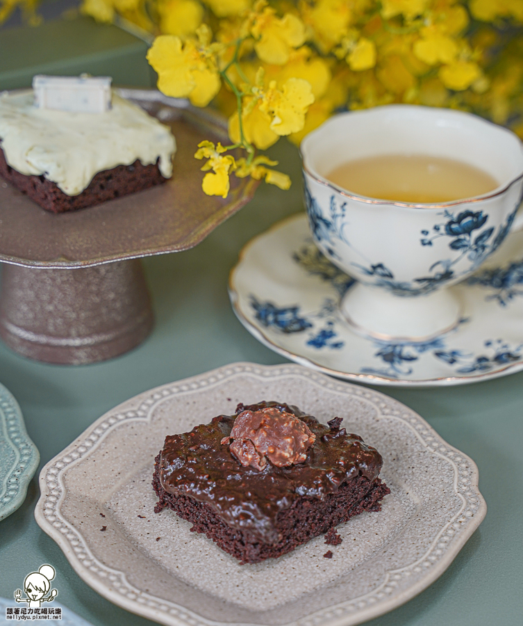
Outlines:
<svg viewBox="0 0 523 626"><path fill-rule="evenodd" d="M3 264L0 336L26 357L86 364L127 352L153 326L138 259L87 268Z"/></svg>

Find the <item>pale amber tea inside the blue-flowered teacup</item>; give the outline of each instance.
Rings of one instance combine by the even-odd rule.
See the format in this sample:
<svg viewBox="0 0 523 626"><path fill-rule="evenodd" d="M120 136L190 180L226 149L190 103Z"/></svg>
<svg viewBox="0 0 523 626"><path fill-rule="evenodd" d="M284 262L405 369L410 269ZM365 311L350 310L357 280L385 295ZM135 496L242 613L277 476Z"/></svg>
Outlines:
<svg viewBox="0 0 523 626"><path fill-rule="evenodd" d="M474 198L499 186L480 168L429 154L376 154L346 161L325 177L357 195L415 204Z"/></svg>

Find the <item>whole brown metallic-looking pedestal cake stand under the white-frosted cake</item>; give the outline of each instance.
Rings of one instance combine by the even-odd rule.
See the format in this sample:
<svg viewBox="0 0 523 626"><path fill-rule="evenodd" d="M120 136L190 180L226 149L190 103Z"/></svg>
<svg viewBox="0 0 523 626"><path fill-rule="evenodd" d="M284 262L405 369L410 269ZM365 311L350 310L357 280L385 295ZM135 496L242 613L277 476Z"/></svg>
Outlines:
<svg viewBox="0 0 523 626"><path fill-rule="evenodd" d="M26 357L85 364L140 344L153 326L140 257L196 246L254 195L235 177L226 199L201 191L193 155L203 139L228 141L222 118L156 90L119 93L172 127L169 182L54 215L0 178L0 336Z"/></svg>

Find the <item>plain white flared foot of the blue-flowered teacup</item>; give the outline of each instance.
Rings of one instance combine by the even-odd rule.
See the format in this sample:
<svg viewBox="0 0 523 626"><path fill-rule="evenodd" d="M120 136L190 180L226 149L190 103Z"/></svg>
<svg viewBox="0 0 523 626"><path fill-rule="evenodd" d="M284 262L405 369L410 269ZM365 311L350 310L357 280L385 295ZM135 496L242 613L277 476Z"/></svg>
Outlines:
<svg viewBox="0 0 523 626"><path fill-rule="evenodd" d="M355 332L394 342L425 342L449 332L462 317L462 305L451 289L420 296L395 296L357 282L340 303Z"/></svg>

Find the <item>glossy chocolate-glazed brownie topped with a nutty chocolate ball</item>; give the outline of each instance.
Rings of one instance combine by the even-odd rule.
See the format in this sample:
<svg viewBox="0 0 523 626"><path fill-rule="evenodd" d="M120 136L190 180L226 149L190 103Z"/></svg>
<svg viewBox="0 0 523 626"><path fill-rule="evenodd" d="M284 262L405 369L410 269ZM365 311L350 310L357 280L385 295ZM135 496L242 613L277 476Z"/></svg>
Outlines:
<svg viewBox="0 0 523 626"><path fill-rule="evenodd" d="M341 422L325 426L264 401L169 435L155 459L155 511L171 508L240 563L281 556L380 511L390 493L379 479L381 455Z"/></svg>

